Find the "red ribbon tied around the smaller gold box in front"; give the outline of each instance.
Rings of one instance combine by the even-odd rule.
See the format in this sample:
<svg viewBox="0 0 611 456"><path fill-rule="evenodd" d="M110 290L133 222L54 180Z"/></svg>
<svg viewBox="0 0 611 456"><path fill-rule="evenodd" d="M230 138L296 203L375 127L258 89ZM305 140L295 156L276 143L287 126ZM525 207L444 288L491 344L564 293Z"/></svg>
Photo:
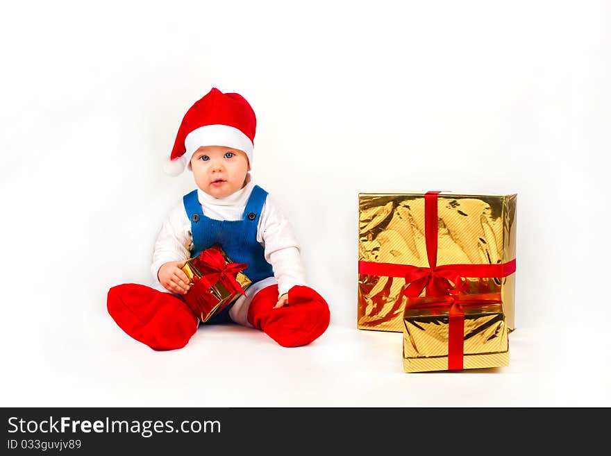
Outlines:
<svg viewBox="0 0 611 456"><path fill-rule="evenodd" d="M460 289L460 287L459 287ZM408 298L406 307L410 309L426 309L429 307L450 307L448 319L448 370L458 370L463 367L464 358L464 311L468 305L502 304L500 293L458 294L453 290L450 296L439 298Z"/></svg>

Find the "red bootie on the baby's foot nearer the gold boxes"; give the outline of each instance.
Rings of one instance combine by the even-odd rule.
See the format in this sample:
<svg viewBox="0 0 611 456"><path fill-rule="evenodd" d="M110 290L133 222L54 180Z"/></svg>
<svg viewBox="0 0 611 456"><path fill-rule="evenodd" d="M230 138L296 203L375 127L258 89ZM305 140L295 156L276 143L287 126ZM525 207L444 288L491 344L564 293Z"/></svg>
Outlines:
<svg viewBox="0 0 611 456"><path fill-rule="evenodd" d="M276 302L278 285L260 290L251 302L248 320L283 347L310 344L329 326L329 306L310 287L292 287L285 307L274 309Z"/></svg>

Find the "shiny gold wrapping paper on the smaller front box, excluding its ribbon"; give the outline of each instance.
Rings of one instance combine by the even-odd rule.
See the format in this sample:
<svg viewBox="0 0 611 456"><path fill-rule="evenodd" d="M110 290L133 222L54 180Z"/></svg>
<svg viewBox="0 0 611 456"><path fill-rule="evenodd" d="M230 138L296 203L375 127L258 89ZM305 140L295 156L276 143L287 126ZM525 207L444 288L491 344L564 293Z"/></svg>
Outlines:
<svg viewBox="0 0 611 456"><path fill-rule="evenodd" d="M509 341L503 306L469 305L463 310L463 369L508 366ZM447 370L448 335L449 306L428 309L408 307L403 317L403 370Z"/></svg>

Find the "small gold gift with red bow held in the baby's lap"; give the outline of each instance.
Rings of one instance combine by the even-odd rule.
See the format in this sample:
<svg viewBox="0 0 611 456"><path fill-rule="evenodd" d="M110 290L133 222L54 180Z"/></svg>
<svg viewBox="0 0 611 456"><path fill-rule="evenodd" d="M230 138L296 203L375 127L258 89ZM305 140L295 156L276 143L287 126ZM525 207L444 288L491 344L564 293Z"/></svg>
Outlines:
<svg viewBox="0 0 611 456"><path fill-rule="evenodd" d="M214 251L219 252L222 257L218 257ZM212 246L208 249L208 252L205 253L217 255L217 263L214 265L207 264L206 262L202 262L201 256L197 256L187 260L182 267L191 285L187 294L183 295L183 299L194 314L199 316L202 322L206 322L211 319L212 316L219 314L225 307L240 297L240 292L232 289L233 287L228 281L235 280L235 282L242 287L242 290L245 290L251 285L251 280L246 274L242 271L237 271L237 273L235 273L236 269L240 269L240 266L245 268L247 266L246 264L237 265L236 263L232 263L220 246ZM206 255L204 257L206 257ZM218 262L219 259L221 262ZM233 268L233 273L223 273L224 268L234 265L238 267ZM216 280L213 285L208 286L206 280L202 280L202 277L206 276L206 274L212 274L212 277L216 275L218 276L218 280ZM229 277L230 275L231 278Z"/></svg>

